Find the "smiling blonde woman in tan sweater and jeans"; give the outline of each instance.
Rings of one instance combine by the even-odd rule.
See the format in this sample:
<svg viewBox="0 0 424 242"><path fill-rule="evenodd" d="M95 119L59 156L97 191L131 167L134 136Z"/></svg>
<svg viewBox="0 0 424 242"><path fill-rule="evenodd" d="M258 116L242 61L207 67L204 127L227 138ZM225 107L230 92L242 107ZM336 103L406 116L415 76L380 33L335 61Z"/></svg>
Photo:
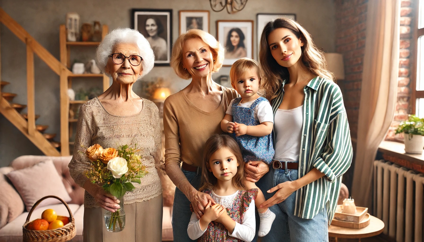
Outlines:
<svg viewBox="0 0 424 242"><path fill-rule="evenodd" d="M209 33L191 29L173 45L171 67L191 82L170 95L164 103L165 167L177 186L173 205L174 242L191 240L187 227L192 212L200 219L212 197L199 192L204 145L213 134L220 134L220 122L231 100L229 89L212 81L212 73L222 67L224 49ZM181 166L180 166L181 165Z"/></svg>

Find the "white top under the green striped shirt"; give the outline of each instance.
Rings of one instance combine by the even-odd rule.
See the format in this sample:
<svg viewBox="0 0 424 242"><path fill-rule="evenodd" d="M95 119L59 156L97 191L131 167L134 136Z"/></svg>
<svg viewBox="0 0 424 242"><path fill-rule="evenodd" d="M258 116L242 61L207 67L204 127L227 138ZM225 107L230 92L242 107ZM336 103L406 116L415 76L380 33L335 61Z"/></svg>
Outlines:
<svg viewBox="0 0 424 242"><path fill-rule="evenodd" d="M275 113L275 154L277 161L298 161L303 128L303 105Z"/></svg>

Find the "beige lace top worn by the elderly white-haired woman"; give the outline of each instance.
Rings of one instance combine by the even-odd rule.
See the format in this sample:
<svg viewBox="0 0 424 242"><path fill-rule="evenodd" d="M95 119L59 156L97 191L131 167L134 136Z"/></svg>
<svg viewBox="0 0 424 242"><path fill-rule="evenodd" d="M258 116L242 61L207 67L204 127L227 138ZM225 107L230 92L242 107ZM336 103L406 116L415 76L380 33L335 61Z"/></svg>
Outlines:
<svg viewBox="0 0 424 242"><path fill-rule="evenodd" d="M90 160L85 156L87 147L99 144L103 148L137 144L141 148L142 163L148 174L141 178L141 184L133 183L135 189L124 196L124 204L142 202L162 193L157 169L164 166L161 155L161 134L159 112L156 105L143 99L142 110L133 116L120 117L109 114L98 98L89 100L79 111L75 149L69 170L75 183L83 186L87 178ZM98 203L85 192L84 207L98 208Z"/></svg>

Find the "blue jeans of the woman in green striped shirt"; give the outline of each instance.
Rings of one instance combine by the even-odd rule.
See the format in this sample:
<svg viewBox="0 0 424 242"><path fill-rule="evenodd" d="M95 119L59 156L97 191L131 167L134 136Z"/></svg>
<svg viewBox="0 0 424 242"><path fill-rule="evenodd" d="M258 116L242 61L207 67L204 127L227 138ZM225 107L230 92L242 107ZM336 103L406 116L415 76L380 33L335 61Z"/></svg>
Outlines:
<svg viewBox="0 0 424 242"><path fill-rule="evenodd" d="M287 174L285 173L284 169L274 170L270 167L270 171L257 182L266 200L275 194L275 192L266 192L271 187L298 179L298 170L287 170ZM276 218L271 231L262 237L262 242L328 242L328 218L325 206L312 219L303 219L294 215L295 206L296 192L293 192L286 200L270 207Z"/></svg>

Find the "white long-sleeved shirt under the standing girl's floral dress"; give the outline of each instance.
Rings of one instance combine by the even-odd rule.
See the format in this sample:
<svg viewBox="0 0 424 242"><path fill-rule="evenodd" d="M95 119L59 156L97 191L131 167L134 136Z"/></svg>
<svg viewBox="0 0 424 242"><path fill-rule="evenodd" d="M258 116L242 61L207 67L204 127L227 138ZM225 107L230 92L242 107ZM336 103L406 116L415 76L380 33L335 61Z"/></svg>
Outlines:
<svg viewBox="0 0 424 242"><path fill-rule="evenodd" d="M234 200L235 195L238 194L239 191L235 192L232 195L228 196L218 196L215 193L213 193L212 198L214 198L215 202L219 203L218 200L225 201L222 204L225 207L229 204L232 204L232 200ZM218 199L216 199L218 198ZM190 239L198 239L204 232L207 230L202 230L200 228L200 222L197 219L197 216L195 213L191 214L190 223L188 224L187 233ZM255 200L252 199L251 203L248 207L248 209L245 211L241 218L241 224L236 222L236 225L234 227L234 231L230 234L228 231L228 235L235 237L237 239L241 239L245 242L251 242L255 236L255 229L256 229L256 220L255 220Z"/></svg>

